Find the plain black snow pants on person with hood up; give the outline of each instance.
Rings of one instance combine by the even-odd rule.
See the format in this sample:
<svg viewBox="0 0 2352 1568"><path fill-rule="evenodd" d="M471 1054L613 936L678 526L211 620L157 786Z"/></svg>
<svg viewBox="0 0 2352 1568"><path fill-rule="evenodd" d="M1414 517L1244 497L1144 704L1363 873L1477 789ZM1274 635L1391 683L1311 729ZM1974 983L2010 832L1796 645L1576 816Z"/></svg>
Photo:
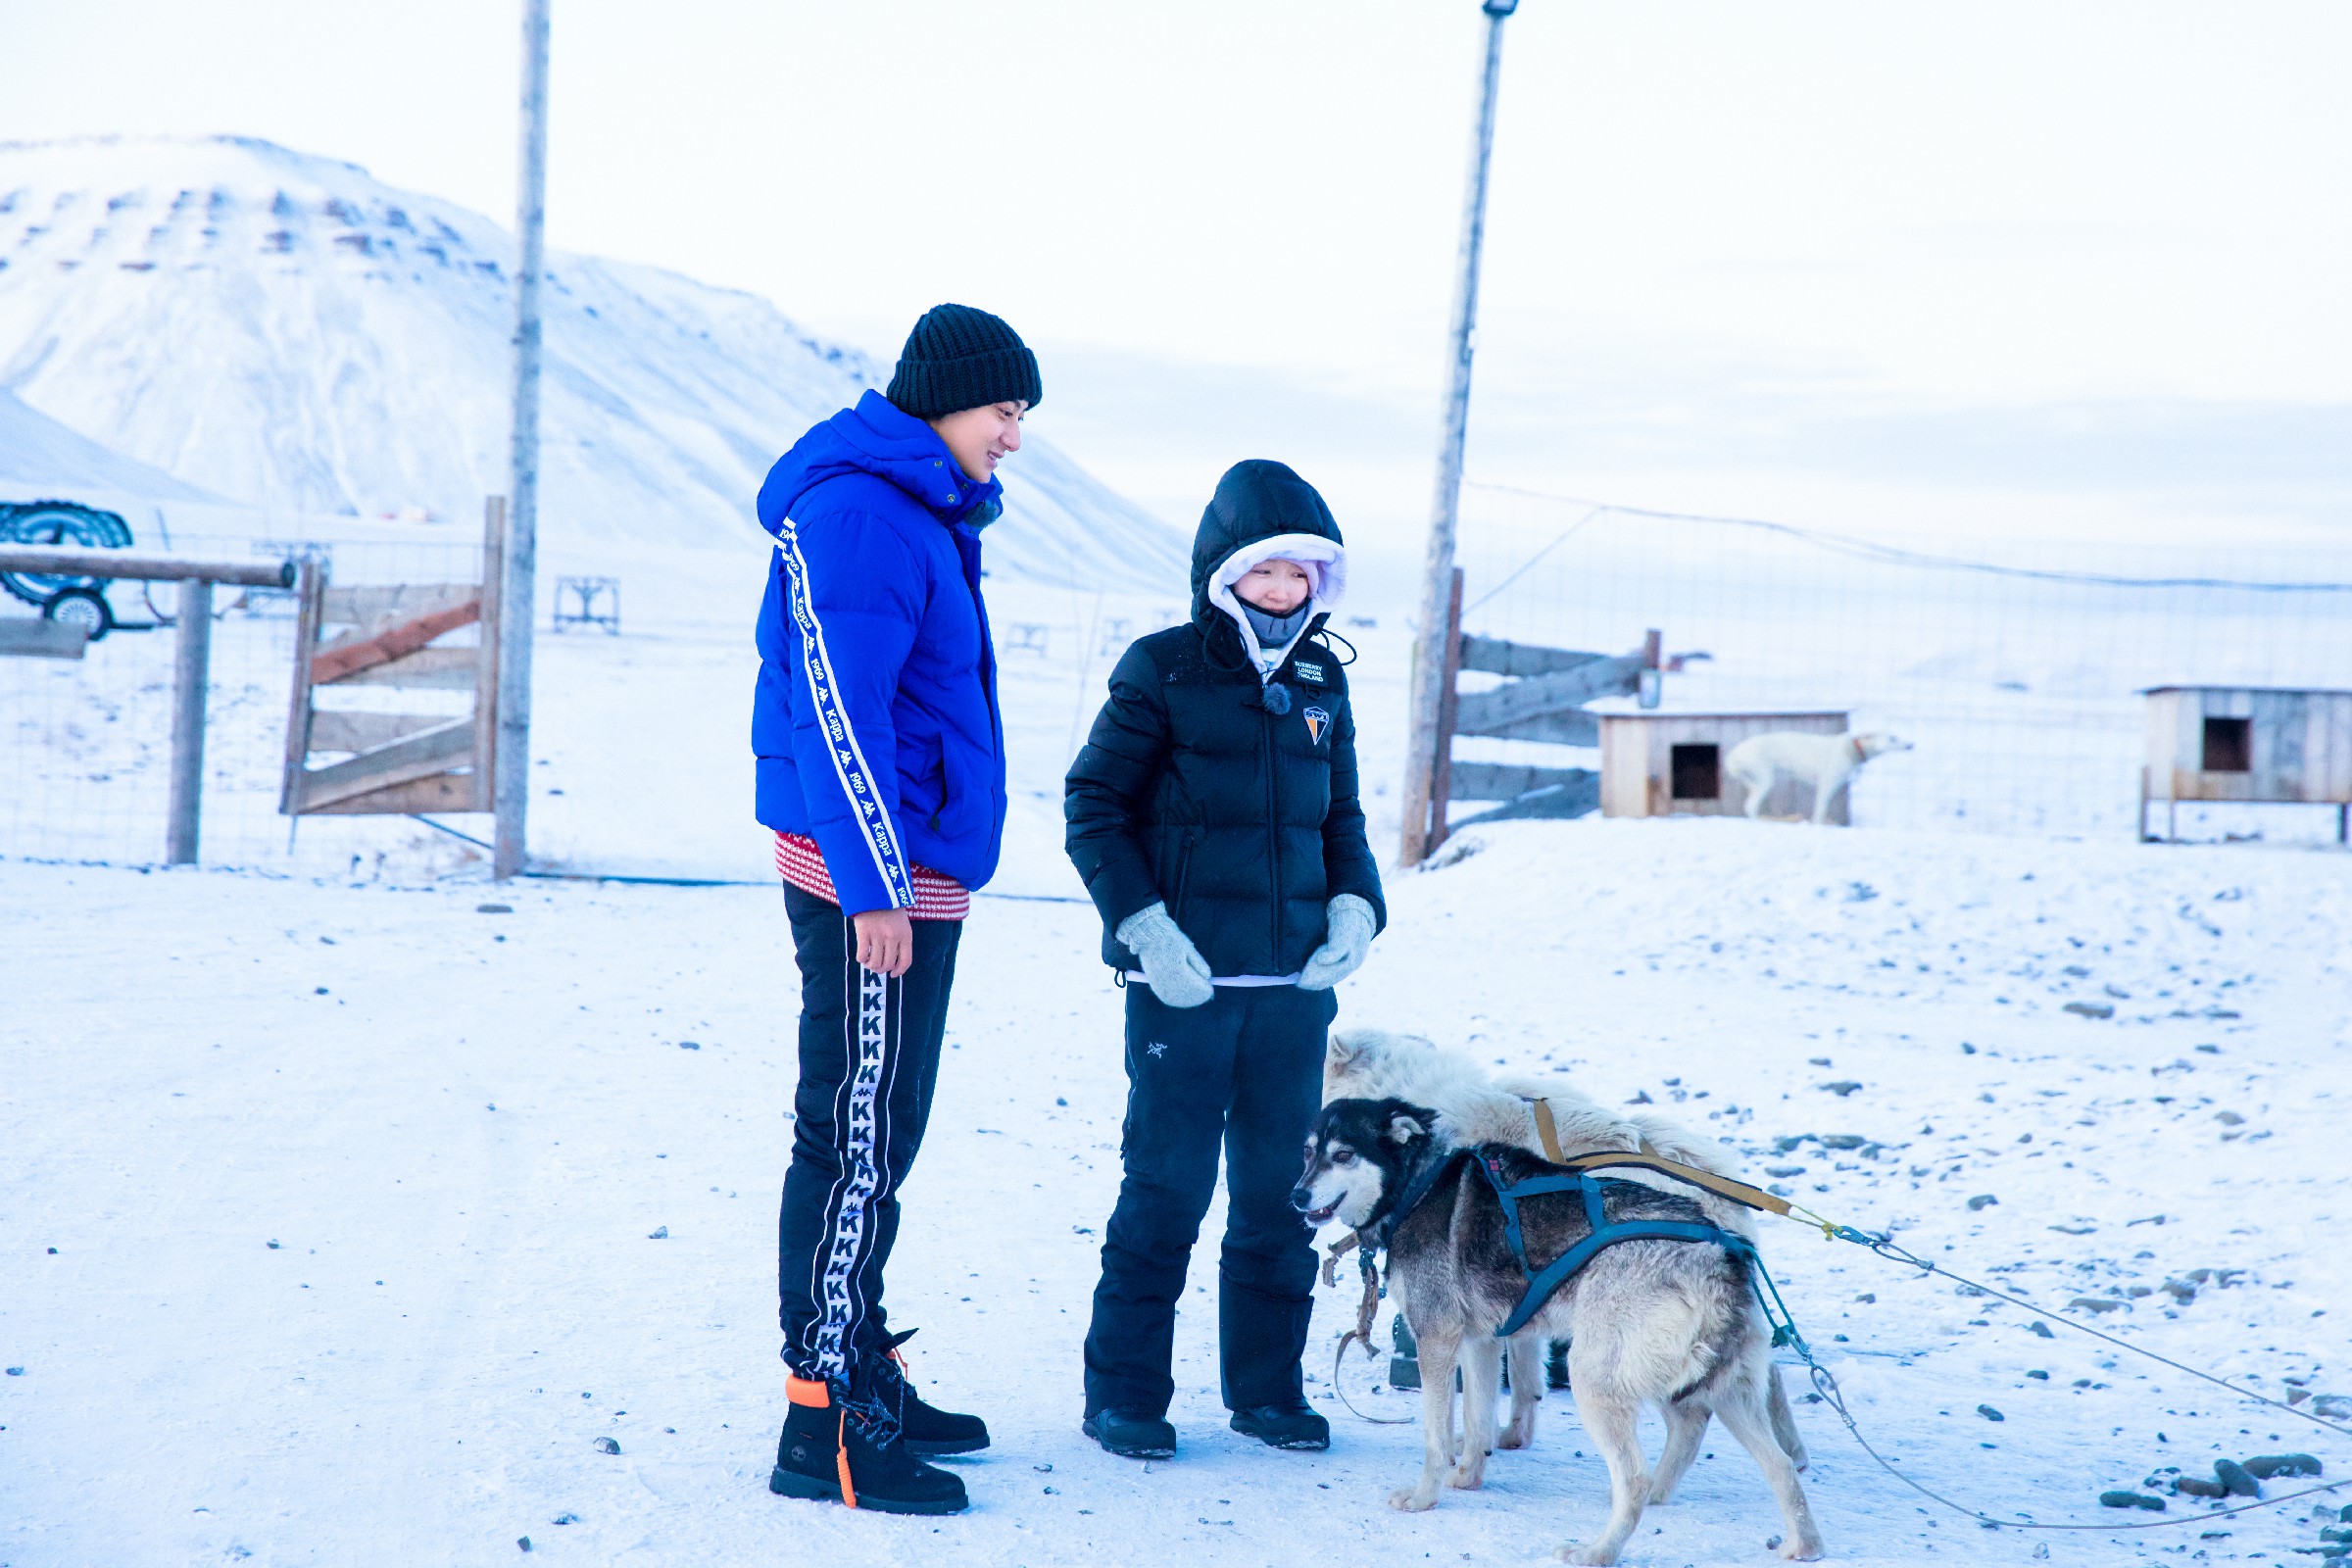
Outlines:
<svg viewBox="0 0 2352 1568"><path fill-rule="evenodd" d="M1315 1241L1291 1208L1322 1103L1338 1001L1296 985L1221 985L1195 1009L1127 987L1127 1178L1103 1232L1087 1328L1087 1413L1167 1415L1176 1302L1225 1152L1218 1363L1225 1408L1296 1403L1315 1309Z"/></svg>

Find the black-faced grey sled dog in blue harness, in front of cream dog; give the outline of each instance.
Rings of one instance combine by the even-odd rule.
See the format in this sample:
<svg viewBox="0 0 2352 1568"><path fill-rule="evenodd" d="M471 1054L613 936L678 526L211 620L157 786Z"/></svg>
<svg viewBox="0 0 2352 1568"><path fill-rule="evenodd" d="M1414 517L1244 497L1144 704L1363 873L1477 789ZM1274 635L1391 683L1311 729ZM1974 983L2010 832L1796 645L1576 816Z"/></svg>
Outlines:
<svg viewBox="0 0 2352 1568"><path fill-rule="evenodd" d="M1479 1413L1494 1425L1494 1359L1463 1356L1475 1340L1491 1340L1526 1293L1503 1232L1494 1187L1456 1145L1435 1133L1437 1112L1388 1100L1334 1100L1308 1135L1305 1173L1291 1204L1308 1225L1338 1220L1367 1244L1388 1246L1388 1279L1404 1319L1421 1340L1421 1481L1390 1493L1390 1507L1421 1512L1437 1505L1439 1486L1475 1488L1486 1474ZM1510 1145L1479 1145L1505 1182L1552 1171ZM1435 1180L1430 1180L1435 1173ZM1399 1199L1423 1187L1409 1213ZM1604 1180L1604 1218L1700 1220L1691 1199L1637 1182ZM1519 1199L1526 1255L1559 1258L1592 1234L1573 1192ZM1639 1239L1602 1248L1515 1335L1569 1340L1571 1394L1585 1432L1609 1465L1609 1526L1583 1547L1562 1547L1571 1563L1613 1563L1642 1521L1651 1476L1642 1460L1642 1406L1665 1413L1670 1439L1705 1427L1708 1413L1755 1455L1780 1502L1788 1535L1780 1556L1820 1556L1820 1530L1797 1481L1797 1467L1773 1439L1771 1326L1757 1307L1748 1262L1708 1241ZM1454 1450L1454 1371L1463 1373L1461 1460Z"/></svg>

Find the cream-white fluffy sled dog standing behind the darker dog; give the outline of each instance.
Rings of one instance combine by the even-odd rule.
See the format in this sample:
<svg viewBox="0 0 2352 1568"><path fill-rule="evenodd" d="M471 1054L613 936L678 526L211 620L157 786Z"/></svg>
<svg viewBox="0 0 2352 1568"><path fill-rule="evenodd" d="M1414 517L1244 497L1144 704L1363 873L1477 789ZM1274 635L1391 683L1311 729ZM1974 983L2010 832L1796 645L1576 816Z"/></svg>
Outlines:
<svg viewBox="0 0 2352 1568"><path fill-rule="evenodd" d="M1454 1147L1508 1143L1526 1150L1529 1154L1545 1154L1543 1135L1536 1124L1536 1100L1543 1100L1552 1112L1552 1131L1559 1138L1559 1152L1569 1159L1606 1150L1646 1152L1663 1154L1665 1159L1684 1166L1712 1171L1715 1175L1738 1178L1738 1166L1724 1157L1724 1147L1719 1143L1700 1138L1672 1117L1661 1117L1656 1112L1625 1117L1613 1112L1595 1103L1559 1074L1529 1072L1486 1079L1486 1074L1479 1072L1477 1063L1468 1056L1446 1051L1437 1041L1421 1034L1392 1034L1388 1030L1334 1032L1331 1044L1324 1048L1324 1105L1334 1100L1381 1100L1390 1095L1411 1105L1430 1107L1437 1117L1437 1135ZM1696 1201L1700 1211L1705 1211L1710 1225L1719 1225L1733 1234L1748 1237L1750 1241L1757 1239L1755 1211L1733 1204L1731 1199L1677 1182L1672 1175L1653 1175L1649 1171L1611 1171L1611 1175L1628 1182L1642 1182L1670 1197ZM1536 1441L1536 1406L1543 1399L1543 1340L1512 1340L1510 1422L1501 1434L1491 1432L1491 1415L1484 1418L1484 1425L1477 1413L1465 1415L1465 1429L1486 1432L1486 1446L1526 1448ZM1494 1363L1503 1354L1503 1347L1498 1340L1484 1338L1475 1342L1468 1354L1472 1361ZM1482 1375L1484 1387L1491 1389L1501 1378L1501 1368L1486 1366ZM1425 1380L1428 1378L1423 1378L1423 1382ZM1463 1387L1470 1387L1468 1378L1463 1380ZM1651 1502L1665 1502L1672 1495L1675 1483L1682 1481L1682 1472L1686 1472L1691 1460L1698 1458L1698 1441L1705 1436L1708 1418L1703 1403L1693 1408L1698 1410L1698 1420L1689 1427L1689 1432L1672 1425L1668 1427L1668 1446L1665 1453L1658 1455L1658 1472L1649 1497ZM1790 1410L1788 1387L1780 1382L1778 1366L1773 1366L1769 1375L1766 1410L1771 1413L1771 1427L1780 1448L1797 1465L1797 1469L1804 1469L1811 1460L1806 1458L1804 1439L1797 1436L1797 1418Z"/></svg>

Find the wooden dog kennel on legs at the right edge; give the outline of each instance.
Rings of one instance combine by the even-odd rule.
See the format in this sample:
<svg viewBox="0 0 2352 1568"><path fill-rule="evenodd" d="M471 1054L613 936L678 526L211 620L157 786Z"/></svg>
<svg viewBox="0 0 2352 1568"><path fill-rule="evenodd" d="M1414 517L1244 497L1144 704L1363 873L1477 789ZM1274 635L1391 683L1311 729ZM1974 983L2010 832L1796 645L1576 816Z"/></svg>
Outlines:
<svg viewBox="0 0 2352 1568"><path fill-rule="evenodd" d="M2157 799L2166 839L2185 799L2336 806L2336 842L2352 835L2352 691L2154 686L2143 696L2143 839Z"/></svg>

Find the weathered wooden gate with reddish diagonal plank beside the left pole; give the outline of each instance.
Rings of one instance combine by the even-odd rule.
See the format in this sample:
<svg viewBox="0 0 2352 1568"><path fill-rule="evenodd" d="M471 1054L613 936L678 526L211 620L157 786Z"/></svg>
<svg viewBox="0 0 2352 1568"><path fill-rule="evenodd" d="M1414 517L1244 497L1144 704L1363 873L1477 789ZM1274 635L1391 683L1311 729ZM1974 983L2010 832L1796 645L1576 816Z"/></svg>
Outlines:
<svg viewBox="0 0 2352 1568"><path fill-rule="evenodd" d="M506 498L492 496L480 583L329 588L301 564L294 696L287 715L285 816L494 811L499 745L499 585ZM480 628L466 644L442 642ZM463 715L320 708L320 686L470 691ZM313 755L336 762L310 764Z"/></svg>

